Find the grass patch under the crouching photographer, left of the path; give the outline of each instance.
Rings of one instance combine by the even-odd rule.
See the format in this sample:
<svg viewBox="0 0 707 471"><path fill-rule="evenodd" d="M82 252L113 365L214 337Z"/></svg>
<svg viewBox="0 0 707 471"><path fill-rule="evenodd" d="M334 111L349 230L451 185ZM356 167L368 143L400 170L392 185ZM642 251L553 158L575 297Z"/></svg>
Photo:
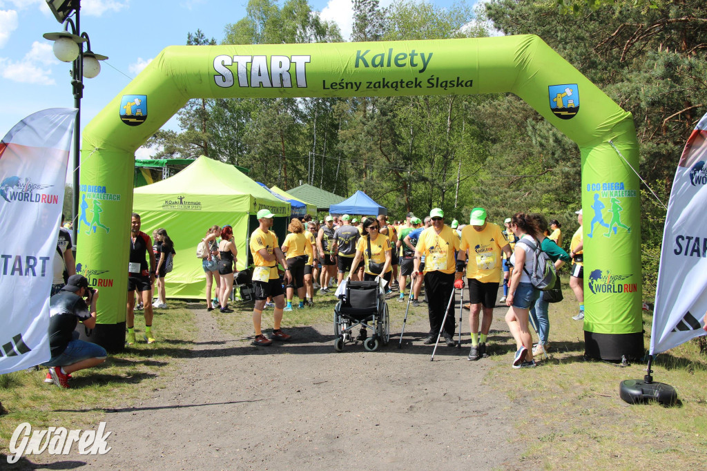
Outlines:
<svg viewBox="0 0 707 471"><path fill-rule="evenodd" d="M194 315L182 301L170 301L167 310L156 310L153 332L158 342L141 342L144 322L136 313L134 347L109 354L105 363L71 376L65 390L44 383L47 368L16 371L0 376L0 401L7 414L0 416L0 453L16 427L29 422L33 429L64 426L86 429L98 423L106 410L125 407L164 388L180 359L189 355L197 329Z"/></svg>

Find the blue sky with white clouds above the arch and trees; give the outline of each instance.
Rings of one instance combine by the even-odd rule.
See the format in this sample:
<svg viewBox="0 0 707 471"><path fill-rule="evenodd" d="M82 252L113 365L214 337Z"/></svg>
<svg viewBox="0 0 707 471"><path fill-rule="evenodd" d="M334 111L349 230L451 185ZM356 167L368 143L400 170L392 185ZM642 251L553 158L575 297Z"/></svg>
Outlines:
<svg viewBox="0 0 707 471"><path fill-rule="evenodd" d="M199 28L221 42L223 28L245 16L246 4L247 0L81 0L81 30L88 33L93 52L109 57L97 77L84 79L81 128L161 50L185 44L187 33ZM349 37L351 0L310 0L310 5ZM74 106L71 64L59 62L52 42L42 37L62 29L45 0L0 0L0 136L35 111ZM175 119L165 127L177 129ZM148 153L140 149L136 155L146 158Z"/></svg>

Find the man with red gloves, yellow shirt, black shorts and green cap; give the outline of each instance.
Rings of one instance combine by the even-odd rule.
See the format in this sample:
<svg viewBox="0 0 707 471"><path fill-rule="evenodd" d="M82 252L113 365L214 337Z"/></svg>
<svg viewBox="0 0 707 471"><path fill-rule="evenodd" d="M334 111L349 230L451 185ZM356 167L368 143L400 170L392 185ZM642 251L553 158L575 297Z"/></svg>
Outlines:
<svg viewBox="0 0 707 471"><path fill-rule="evenodd" d="M469 226L462 229L461 250L457 255L457 272L464 271L466 264L469 284L469 330L472 334L472 349L469 360L478 360L486 355L486 337L489 335L493 306L496 306L498 285L501 284L502 255L510 257L510 245L498 224L486 221L486 209L472 209ZM479 337L479 312L484 311Z"/></svg>

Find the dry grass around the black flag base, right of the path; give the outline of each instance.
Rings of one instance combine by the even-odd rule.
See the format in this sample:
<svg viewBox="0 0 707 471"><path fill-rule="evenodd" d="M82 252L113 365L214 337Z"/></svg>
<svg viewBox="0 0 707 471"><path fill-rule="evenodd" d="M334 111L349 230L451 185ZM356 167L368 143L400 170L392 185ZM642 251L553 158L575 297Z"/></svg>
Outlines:
<svg viewBox="0 0 707 471"><path fill-rule="evenodd" d="M698 342L686 342L658 355L653 378L676 388L677 407L629 405L619 397L622 380L643 378L645 362L621 368L585 361L583 323L571 320L577 303L550 305L549 359L529 371L513 371L511 354L493 356L487 384L510 400L529 404L518 440L526 443L523 460L545 469L574 463L595 469L696 469L707 442L707 358ZM650 315L644 315L645 348ZM537 335L534 335L537 340ZM507 340L513 344L513 339ZM532 455L530 454L532 453ZM533 464L534 463L534 464Z"/></svg>

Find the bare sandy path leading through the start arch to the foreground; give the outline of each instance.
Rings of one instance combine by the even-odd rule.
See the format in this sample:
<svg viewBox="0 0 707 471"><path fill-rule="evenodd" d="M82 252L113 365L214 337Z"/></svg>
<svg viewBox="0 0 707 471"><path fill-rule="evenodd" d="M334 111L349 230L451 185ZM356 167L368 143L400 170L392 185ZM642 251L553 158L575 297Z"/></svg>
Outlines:
<svg viewBox="0 0 707 471"><path fill-rule="evenodd" d="M483 385L491 360L467 361L466 344L440 345L431 362L426 320L408 323L403 349L392 325L382 351L336 353L329 324L255 348L194 313L199 338L173 383L106 414L110 453L64 460L120 470L520 467L509 438L522 406ZM505 330L501 319L493 329Z"/></svg>

